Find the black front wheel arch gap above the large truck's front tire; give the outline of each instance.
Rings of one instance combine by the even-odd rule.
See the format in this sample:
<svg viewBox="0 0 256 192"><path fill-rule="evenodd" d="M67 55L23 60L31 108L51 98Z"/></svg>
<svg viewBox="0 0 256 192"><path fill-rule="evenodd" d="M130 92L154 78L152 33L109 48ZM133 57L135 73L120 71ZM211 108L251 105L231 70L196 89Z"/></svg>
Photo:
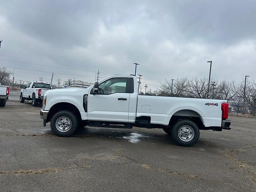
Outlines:
<svg viewBox="0 0 256 192"><path fill-rule="evenodd" d="M49 112L48 112L48 116L47 116L47 120L46 122L50 122L51 119L52 119L52 116L54 114L56 114L56 112L59 112L59 111L62 111L62 110L68 110L68 111L71 111L73 112L76 116L78 116L78 119L81 120L81 114L80 114L80 111L78 110L78 108L74 105L74 104L71 104L71 103L68 103L68 102L60 102L60 103L56 103L54 104Z"/></svg>

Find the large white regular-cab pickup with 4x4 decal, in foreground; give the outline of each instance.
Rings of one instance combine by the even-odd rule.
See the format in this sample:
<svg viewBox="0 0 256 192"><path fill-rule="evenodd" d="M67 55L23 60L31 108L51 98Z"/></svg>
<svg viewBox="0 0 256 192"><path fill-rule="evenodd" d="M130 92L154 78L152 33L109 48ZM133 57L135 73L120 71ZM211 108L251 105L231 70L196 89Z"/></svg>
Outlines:
<svg viewBox="0 0 256 192"><path fill-rule="evenodd" d="M40 116L58 136L86 125L163 128L180 146L195 144L199 130L230 130L226 100L146 96L137 90L133 75L110 76L86 89L49 90Z"/></svg>

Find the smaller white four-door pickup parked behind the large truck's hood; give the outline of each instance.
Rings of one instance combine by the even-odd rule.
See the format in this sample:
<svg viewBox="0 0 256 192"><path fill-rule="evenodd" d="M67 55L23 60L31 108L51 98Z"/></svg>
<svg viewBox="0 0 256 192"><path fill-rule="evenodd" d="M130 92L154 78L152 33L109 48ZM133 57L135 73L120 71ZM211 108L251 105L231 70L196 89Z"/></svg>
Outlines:
<svg viewBox="0 0 256 192"><path fill-rule="evenodd" d="M52 87L49 83L44 82L29 82L25 87L20 86L20 102L24 103L25 100L32 100L32 105L37 106L42 103L43 95Z"/></svg>

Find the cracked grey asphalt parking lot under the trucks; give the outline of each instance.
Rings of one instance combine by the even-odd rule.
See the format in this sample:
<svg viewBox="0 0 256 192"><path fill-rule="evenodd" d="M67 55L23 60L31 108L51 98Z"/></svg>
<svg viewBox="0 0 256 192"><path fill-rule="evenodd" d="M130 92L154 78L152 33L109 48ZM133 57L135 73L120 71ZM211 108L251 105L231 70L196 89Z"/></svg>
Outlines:
<svg viewBox="0 0 256 192"><path fill-rule="evenodd" d="M0 108L0 191L256 191L256 118L230 116L231 130L201 130L189 148L162 129L60 138L15 95Z"/></svg>

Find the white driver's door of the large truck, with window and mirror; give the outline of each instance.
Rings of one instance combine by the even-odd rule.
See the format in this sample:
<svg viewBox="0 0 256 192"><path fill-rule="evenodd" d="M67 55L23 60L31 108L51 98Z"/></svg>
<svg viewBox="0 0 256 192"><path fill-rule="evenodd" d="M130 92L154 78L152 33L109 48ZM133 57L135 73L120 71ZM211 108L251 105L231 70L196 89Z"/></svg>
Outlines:
<svg viewBox="0 0 256 192"><path fill-rule="evenodd" d="M88 120L128 122L132 78L110 78L99 84L99 94L88 94Z"/></svg>

